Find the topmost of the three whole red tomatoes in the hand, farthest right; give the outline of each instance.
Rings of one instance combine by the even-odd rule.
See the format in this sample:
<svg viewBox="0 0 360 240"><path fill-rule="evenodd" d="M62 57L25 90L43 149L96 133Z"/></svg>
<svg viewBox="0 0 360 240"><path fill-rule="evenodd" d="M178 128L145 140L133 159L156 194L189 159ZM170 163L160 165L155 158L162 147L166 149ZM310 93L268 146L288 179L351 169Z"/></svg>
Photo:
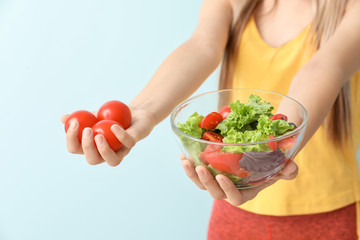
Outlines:
<svg viewBox="0 0 360 240"><path fill-rule="evenodd" d="M131 111L129 107L120 101L110 101L102 105L97 118L100 120L113 120L127 129L131 125Z"/></svg>

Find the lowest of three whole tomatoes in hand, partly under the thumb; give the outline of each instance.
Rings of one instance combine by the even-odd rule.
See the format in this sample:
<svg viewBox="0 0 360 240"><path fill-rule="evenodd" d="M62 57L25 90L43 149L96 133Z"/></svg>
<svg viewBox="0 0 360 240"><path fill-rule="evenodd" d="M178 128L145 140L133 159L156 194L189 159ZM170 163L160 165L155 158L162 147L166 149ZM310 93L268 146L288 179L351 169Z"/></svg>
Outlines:
<svg viewBox="0 0 360 240"><path fill-rule="evenodd" d="M110 129L114 124L120 125L118 122L112 120L101 120L100 122L96 123L92 129L94 131L94 137L98 134L103 135L111 149L116 152L121 148L122 143L117 139L117 137Z"/></svg>

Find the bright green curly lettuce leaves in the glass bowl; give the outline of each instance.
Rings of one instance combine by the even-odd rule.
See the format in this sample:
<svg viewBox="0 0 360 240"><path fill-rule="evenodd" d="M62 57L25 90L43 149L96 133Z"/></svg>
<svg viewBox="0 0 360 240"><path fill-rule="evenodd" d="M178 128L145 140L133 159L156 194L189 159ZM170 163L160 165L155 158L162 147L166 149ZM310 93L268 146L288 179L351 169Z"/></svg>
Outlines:
<svg viewBox="0 0 360 240"><path fill-rule="evenodd" d="M214 131L224 137L224 143L252 143L265 141L270 135L274 137L294 128L285 120L271 120L274 107L257 95L249 96L249 103L241 103L239 100L230 104L231 113L225 120L220 122ZM204 116L193 113L185 123L178 123L178 128L186 134L195 138L201 138L205 129L199 127ZM243 152L269 152L271 149L267 144L256 144L248 146L225 146L222 151L232 153Z"/></svg>

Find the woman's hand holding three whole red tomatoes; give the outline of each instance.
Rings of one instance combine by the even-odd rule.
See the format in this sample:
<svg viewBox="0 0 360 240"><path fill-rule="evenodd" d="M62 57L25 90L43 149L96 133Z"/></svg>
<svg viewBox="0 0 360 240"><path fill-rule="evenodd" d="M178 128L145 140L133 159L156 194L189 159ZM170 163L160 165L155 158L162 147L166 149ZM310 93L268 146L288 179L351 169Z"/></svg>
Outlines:
<svg viewBox="0 0 360 240"><path fill-rule="evenodd" d="M135 144L148 136L154 127L154 120L151 114L142 109L131 108L132 123L129 128L124 130L119 125L113 125L111 131L123 144L119 151L114 152L106 142L103 135L95 136L91 128L85 128L82 134L81 143L78 140L79 122L72 120L66 133L66 145L70 153L84 154L86 161L90 165L106 162L112 167L121 163L123 158L130 152ZM69 115L61 117L65 124Z"/></svg>

